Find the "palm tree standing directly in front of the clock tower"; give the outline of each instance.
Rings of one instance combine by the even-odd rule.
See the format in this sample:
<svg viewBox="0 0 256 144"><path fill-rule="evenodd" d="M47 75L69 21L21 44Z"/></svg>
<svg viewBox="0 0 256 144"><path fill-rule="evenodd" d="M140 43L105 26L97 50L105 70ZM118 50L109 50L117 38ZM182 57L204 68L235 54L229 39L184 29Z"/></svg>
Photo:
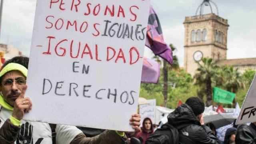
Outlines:
<svg viewBox="0 0 256 144"><path fill-rule="evenodd" d="M218 66L212 58L203 58L202 64L200 62L197 62L197 64L199 67L194 78L196 84L206 87L206 106L210 106L212 105L212 82L217 75Z"/></svg>

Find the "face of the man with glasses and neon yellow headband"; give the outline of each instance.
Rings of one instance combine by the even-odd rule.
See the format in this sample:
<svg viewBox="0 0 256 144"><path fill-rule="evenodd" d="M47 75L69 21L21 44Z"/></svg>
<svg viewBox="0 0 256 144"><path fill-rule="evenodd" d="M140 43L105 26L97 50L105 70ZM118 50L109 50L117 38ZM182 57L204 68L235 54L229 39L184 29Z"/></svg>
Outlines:
<svg viewBox="0 0 256 144"><path fill-rule="evenodd" d="M2 76L0 90L4 100L11 106L14 106L15 100L25 92L25 88L26 77L21 72L13 70Z"/></svg>

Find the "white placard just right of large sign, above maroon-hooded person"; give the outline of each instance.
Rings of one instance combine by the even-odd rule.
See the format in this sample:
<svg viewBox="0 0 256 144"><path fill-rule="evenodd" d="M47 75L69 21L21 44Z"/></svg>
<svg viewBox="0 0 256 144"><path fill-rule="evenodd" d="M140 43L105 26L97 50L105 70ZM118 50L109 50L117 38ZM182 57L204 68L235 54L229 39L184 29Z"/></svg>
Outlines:
<svg viewBox="0 0 256 144"><path fill-rule="evenodd" d="M139 110L142 122L145 118L150 118L156 124L156 99L148 100L148 104L140 104Z"/></svg>

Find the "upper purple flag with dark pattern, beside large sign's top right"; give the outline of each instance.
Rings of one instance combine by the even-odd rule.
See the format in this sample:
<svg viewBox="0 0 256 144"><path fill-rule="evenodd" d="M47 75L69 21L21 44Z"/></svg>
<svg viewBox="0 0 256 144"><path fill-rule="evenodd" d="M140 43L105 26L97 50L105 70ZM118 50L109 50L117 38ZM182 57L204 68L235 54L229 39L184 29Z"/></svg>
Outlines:
<svg viewBox="0 0 256 144"><path fill-rule="evenodd" d="M160 56L172 65L172 49L164 42L162 28L152 6L150 6L148 18L146 46L150 48L155 55Z"/></svg>

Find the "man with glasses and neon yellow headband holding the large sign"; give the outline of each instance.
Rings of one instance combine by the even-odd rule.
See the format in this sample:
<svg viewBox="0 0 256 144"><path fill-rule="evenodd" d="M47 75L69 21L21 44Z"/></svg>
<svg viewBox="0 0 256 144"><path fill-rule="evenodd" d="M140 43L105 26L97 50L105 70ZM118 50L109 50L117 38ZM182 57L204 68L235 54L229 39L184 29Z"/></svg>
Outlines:
<svg viewBox="0 0 256 144"><path fill-rule="evenodd" d="M86 138L75 126L57 124L52 128L47 123L22 120L32 109L30 98L24 94L28 58L14 57L0 71L0 144L123 144L124 132L106 130L98 136ZM130 119L134 129L140 126L140 115ZM53 135L54 134L54 135Z"/></svg>

